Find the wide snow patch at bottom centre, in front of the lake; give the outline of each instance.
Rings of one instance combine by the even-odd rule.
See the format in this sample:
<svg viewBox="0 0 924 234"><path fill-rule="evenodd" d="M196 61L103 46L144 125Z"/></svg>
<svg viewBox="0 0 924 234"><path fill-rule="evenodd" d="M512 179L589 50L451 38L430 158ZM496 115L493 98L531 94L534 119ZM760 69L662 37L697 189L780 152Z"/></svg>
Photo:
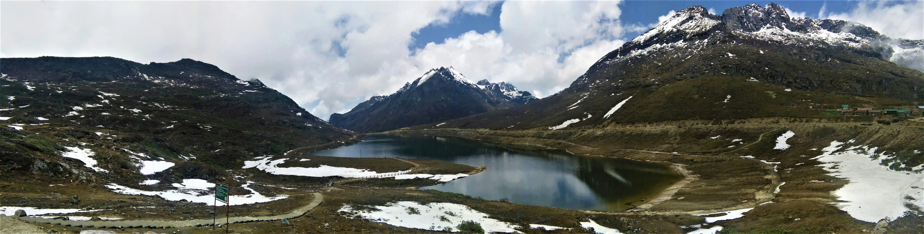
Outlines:
<svg viewBox="0 0 924 234"><path fill-rule="evenodd" d="M511 223L489 218L488 214L457 203L395 202L367 207L374 209L358 210L344 204L337 212L347 213L347 218L362 218L371 222L404 228L459 231L456 226L468 220L479 223L485 233L518 232L515 228L520 228Z"/></svg>

